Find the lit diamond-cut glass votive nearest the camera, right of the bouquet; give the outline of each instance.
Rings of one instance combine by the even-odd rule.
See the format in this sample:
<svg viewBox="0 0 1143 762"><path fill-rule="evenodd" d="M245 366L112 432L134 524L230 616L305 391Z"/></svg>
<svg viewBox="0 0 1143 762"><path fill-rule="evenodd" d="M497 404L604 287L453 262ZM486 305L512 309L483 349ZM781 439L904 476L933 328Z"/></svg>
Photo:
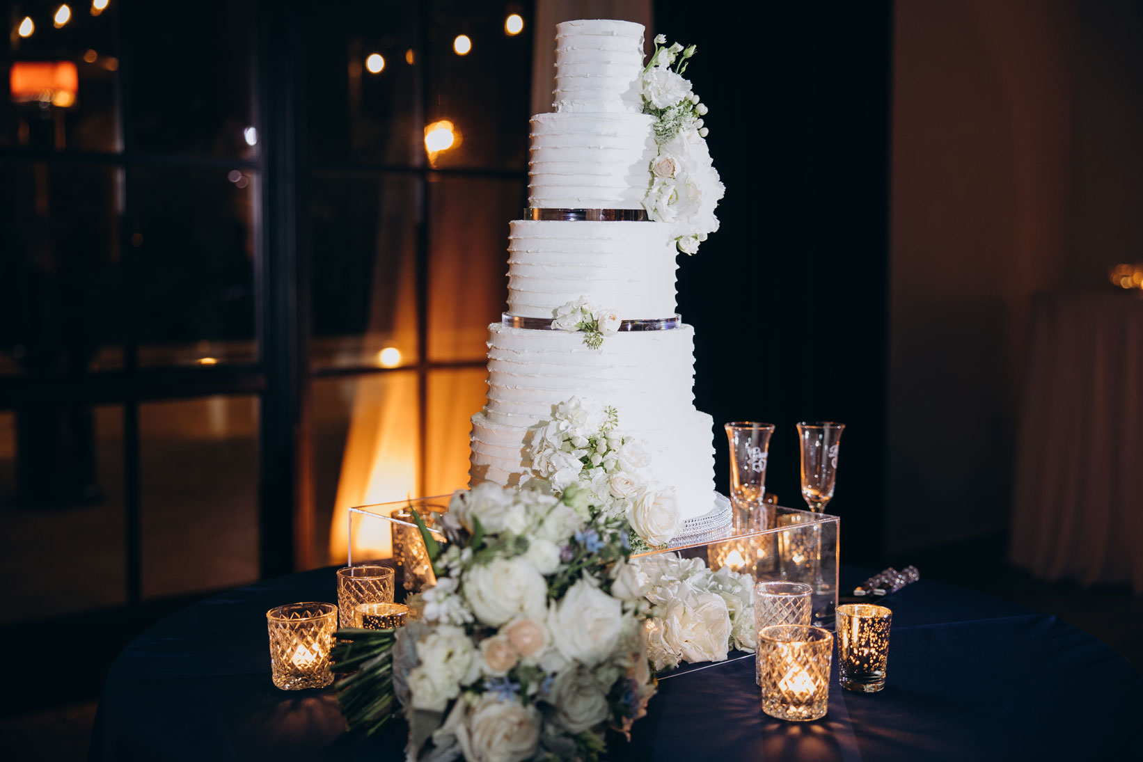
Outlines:
<svg viewBox="0 0 1143 762"><path fill-rule="evenodd" d="M833 633L805 625L770 625L758 633L762 712L780 720L818 720L830 700Z"/></svg>

